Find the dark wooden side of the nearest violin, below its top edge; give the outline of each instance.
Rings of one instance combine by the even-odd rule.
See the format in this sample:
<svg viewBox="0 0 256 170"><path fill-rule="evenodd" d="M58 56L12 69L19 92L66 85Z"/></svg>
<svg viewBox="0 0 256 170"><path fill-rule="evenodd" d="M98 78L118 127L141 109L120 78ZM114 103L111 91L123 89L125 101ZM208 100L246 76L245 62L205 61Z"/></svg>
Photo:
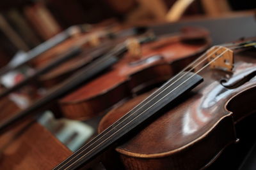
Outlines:
<svg viewBox="0 0 256 170"><path fill-rule="evenodd" d="M125 169L201 169L209 166L222 150L234 143L234 129L231 124L233 120L230 116L223 118L207 136L191 146L184 146L170 153L161 153L140 157L134 153L125 153L117 148L120 159ZM150 141L145 141L150 142ZM213 158L213 159L212 159Z"/></svg>

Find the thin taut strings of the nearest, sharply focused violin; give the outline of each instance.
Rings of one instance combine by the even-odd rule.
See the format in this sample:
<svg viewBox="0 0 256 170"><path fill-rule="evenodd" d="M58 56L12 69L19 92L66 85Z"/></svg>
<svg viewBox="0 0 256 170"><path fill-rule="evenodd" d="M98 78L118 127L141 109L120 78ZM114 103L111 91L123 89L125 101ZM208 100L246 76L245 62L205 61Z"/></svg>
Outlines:
<svg viewBox="0 0 256 170"><path fill-rule="evenodd" d="M244 46L244 45L242 45L242 46L236 46L236 47L234 47L234 48L230 48L230 50L236 49L236 48L240 48L240 47L243 47L243 46ZM216 46L215 46L215 47L216 47ZM221 46L218 46L218 48L217 48L214 52L212 52L212 54L215 53L215 52L217 52L217 51L220 49L220 47L221 47ZM214 48L214 46L213 46L212 48ZM211 48L210 48L210 50L211 50ZM211 62L209 62L209 63L206 64L204 67L202 67L200 70L198 70L196 73L194 73L194 74L193 74L191 77L189 77L186 81L188 81L190 78L192 78L193 76L195 76L195 74L197 74L197 73L199 73L200 71L202 71L202 69L204 69L205 67L209 66L209 64L211 64L212 62L214 62L214 60L220 58L221 55L223 55L223 53L227 52L227 50L228 50L228 49L226 49L224 52L222 52L222 53L221 53L220 55L218 55L216 58L212 59ZM208 51L209 51L209 50L207 50L207 52L208 52ZM199 60L199 58L202 59L202 57L204 57L207 52L205 52L202 56L198 57L198 59L196 59L196 60ZM211 55L212 55L212 54L211 54ZM205 59L211 57L211 55L208 55ZM205 59L204 59L204 60L205 60ZM196 61L196 60L195 60L195 61ZM200 63L204 62L204 60L202 60ZM195 61L194 61L194 62L195 62ZM189 64L189 66L187 66L187 67L186 67L185 69L183 69L183 70L188 69L194 62L192 62L191 64ZM197 66L198 66L198 65L200 65L200 64L197 64ZM197 66L195 66L195 67L197 67ZM195 68L195 67L194 67L194 68ZM191 68L190 71L192 71L194 68ZM182 71L180 71L179 74L182 74ZM188 74L188 73L186 73L186 74ZM186 76L186 74L183 74L183 77ZM178 74L177 74L177 75L178 75ZM173 78L177 77L177 75L174 76ZM173 78L172 78L171 80L173 80ZM180 79L181 79L181 78L179 78L178 80L180 80ZM171 80L169 80L168 82L170 83ZM175 82L177 82L178 80L175 80L171 85L173 85L173 84L174 84ZM180 85L182 85L182 84L185 83L186 81L182 82ZM171 85L169 85L168 87L166 87L166 89L168 89ZM180 85L179 85L179 86L180 86ZM179 86L178 86L178 87L179 87ZM175 89L177 89L178 87L176 87ZM162 90L164 91L164 90L166 90L166 89L162 89ZM175 89L173 89L173 90L175 90ZM172 90L171 92L173 92L173 90ZM156 92L158 92L158 91L159 91L159 90L156 90ZM163 92L163 91L162 91L162 92ZM155 94L156 92L154 92L153 94ZM162 92L160 92L159 94L161 94ZM170 94L171 92L169 92L168 94ZM150 96L148 96L147 99L148 99L149 97L152 97L153 94L151 94ZM157 96L158 96L159 94L157 94ZM167 94L167 95L168 95L168 94ZM166 95L166 96L167 96L167 95ZM157 97L157 96L154 96L154 98ZM164 97L166 97L166 96L164 96ZM161 99L163 99L164 97L162 97ZM154 98L153 98L153 99L154 99ZM145 100L146 100L146 99L145 99ZM145 100L144 100L144 101L145 101ZM151 101L152 101L152 99L151 99ZM150 101L148 101L148 103L149 103L149 102L150 102ZM141 103L143 103L143 101L142 101ZM146 103L146 104L147 104L147 103ZM138 106L138 105L137 105L137 106ZM137 107L137 106L136 106L136 107ZM145 106L145 104L144 104L143 106ZM143 107L143 106L141 106L141 107ZM154 106L154 104L153 104L152 106ZM151 108L152 106L150 106L150 108ZM135 107L134 109L136 109L136 107ZM148 109L149 109L149 108L148 108ZM147 110L148 110L148 109L147 109ZM138 110L140 110L140 108L139 108ZM136 111L138 111L138 110L136 110ZM147 110L145 110L145 111L147 111ZM133 111L133 110L132 110L132 111ZM136 112L136 111L134 111L134 112ZM143 111L142 113L140 113L140 115L143 114L145 111ZM130 111L129 111L129 112L130 112ZM134 114L134 113L133 113L133 114ZM129 115L129 117L131 117L133 114ZM139 117L140 115L138 115L137 117ZM129 118L129 117L127 117L127 118ZM136 118L137 118L137 117L136 117ZM127 118L126 118L126 119L127 119ZM132 120L134 120L134 119L135 119L135 118L133 118ZM123 120L122 122L124 122L124 121L125 121L125 120ZM122 124L122 122L120 122L118 125ZM131 121L131 122L132 122L132 121ZM128 122L128 123L129 123L129 122ZM126 125L127 125L127 124L126 124ZM117 126L117 125L116 125L116 126ZM123 127L122 127L122 128L123 128ZM122 129L122 128L121 128L121 129ZM107 128L107 129L108 129L108 128ZM107 129L105 129L104 131L106 131ZM104 131L103 131L103 132L104 132ZM118 131L120 131L120 129L119 129ZM116 131L116 132L118 132L118 131ZM109 132L111 132L111 131L108 131L106 134L108 134ZM116 132L114 132L114 134L115 134ZM104 136L106 136L106 134L104 134ZM113 136L114 134L112 134L111 136ZM100 138L102 138L102 137L104 137L104 136L100 136ZM111 136L109 136L109 138L111 138ZM97 138L97 136L96 136L95 138ZM93 139L95 139L95 138L93 138ZM99 139L100 139L100 138L99 138ZM107 139L109 139L109 138L107 138ZM91 141L93 141L93 139L92 139ZM99 139L97 139L97 141L99 141ZM106 141L107 139L105 139L104 141ZM96 143L97 141L94 141L94 143ZM104 143L104 141L102 141L101 143ZM90 146L92 146L94 143L92 143ZM100 143L100 144L101 144L101 143ZM99 145L100 145L100 144L99 144ZM97 145L97 146L99 146L99 145ZM84 146L85 146L85 145L84 145ZM84 147L84 146L83 146L83 147ZM88 149L90 146L87 146L87 148L85 148L84 150ZM94 148L92 148L92 150L95 149L97 146L95 146ZM81 147L79 150L83 149L83 147ZM79 152L79 150L77 150L77 152ZM79 160L82 159L84 156L88 155L88 153L92 152L92 150L90 150L89 152L87 152L86 154L84 154L82 157L80 157L80 158L79 158L78 160L76 160L75 162L79 161ZM75 157L73 157L71 160L75 159L77 156L79 156L79 155L77 154L77 155L76 155ZM70 157L71 157L71 156L70 156ZM70 162L71 160L69 160L68 162ZM67 164L68 162L66 162L65 164ZM74 164L75 162L73 162L72 164ZM65 166L65 164L64 164L63 166ZM71 164L71 165L72 165L72 164ZM70 166L71 166L71 165L70 165ZM61 167L63 167L63 166L61 166ZM68 167L70 167L70 166L68 166ZM60 167L60 168L61 168L61 167Z"/></svg>

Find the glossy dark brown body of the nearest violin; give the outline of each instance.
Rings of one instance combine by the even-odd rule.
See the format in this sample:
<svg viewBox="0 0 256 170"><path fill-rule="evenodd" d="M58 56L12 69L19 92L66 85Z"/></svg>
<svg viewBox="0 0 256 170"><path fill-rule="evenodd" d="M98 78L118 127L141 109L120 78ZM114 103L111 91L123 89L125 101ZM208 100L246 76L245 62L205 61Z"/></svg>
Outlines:
<svg viewBox="0 0 256 170"><path fill-rule="evenodd" d="M232 73L209 67L198 73L204 77L202 84L123 138L115 149L122 168L204 169L211 165L236 143L236 123L256 111L255 53L254 49L236 53ZM111 110L100 122L99 132L147 96Z"/></svg>

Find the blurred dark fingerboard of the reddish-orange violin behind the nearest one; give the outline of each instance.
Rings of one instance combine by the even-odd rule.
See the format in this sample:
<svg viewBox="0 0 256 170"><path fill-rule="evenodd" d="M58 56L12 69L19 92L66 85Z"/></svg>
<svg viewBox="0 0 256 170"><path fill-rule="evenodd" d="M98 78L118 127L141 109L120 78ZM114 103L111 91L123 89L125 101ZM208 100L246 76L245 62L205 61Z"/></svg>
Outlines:
<svg viewBox="0 0 256 170"><path fill-rule="evenodd" d="M106 53L106 55L98 57L97 59L95 59L95 61L88 64L88 67L84 67L83 69L78 71L77 74L74 75L74 77L69 78L60 85L49 90L40 99L34 100L34 102L31 104L29 103L29 106L25 106L24 110L16 112L15 115L13 115L12 117L1 121L0 124L2 126L0 129L3 132L12 124L18 123L22 119L26 119L33 114L40 114L41 111L48 110L49 108L51 108L52 105L56 104L54 102L58 97L60 98L61 96L64 96L64 94L67 94L71 90L74 90L81 83L89 81L91 78L93 78L93 76L97 76L97 74L99 74L101 71L107 69L112 64L114 64L118 60L116 55L122 53L123 50L125 50L125 47L120 46L119 50L111 50L111 52ZM95 67L97 67L97 69L94 69ZM54 108L54 110L56 109Z"/></svg>

